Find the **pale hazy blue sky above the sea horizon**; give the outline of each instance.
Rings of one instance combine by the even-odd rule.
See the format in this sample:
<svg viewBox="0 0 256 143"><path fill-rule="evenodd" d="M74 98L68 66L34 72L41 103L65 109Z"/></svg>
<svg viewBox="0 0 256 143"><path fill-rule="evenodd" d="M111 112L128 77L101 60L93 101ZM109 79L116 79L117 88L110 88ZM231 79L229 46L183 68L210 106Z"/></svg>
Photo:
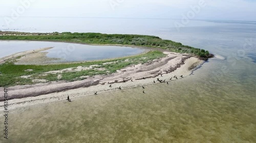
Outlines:
<svg viewBox="0 0 256 143"><path fill-rule="evenodd" d="M256 21L256 0L0 0L0 16Z"/></svg>

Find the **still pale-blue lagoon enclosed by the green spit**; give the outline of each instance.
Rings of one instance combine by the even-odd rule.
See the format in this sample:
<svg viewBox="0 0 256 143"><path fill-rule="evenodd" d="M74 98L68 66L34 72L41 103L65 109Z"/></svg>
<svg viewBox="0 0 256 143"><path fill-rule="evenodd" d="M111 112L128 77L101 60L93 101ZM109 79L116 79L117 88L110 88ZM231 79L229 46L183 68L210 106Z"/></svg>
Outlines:
<svg viewBox="0 0 256 143"><path fill-rule="evenodd" d="M98 46L40 41L0 41L0 47L0 57L42 47L54 47L43 52L48 52L47 56L50 58L61 58L61 62L119 58L145 51L143 48L127 46Z"/></svg>

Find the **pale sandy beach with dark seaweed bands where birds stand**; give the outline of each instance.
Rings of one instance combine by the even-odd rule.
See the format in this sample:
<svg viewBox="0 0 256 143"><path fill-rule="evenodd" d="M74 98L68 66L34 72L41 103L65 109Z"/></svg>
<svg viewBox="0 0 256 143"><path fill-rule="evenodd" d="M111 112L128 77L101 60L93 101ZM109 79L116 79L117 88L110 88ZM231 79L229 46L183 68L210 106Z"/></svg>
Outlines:
<svg viewBox="0 0 256 143"><path fill-rule="evenodd" d="M8 57L1 58L0 63L1 60L4 62L4 60L8 58L15 58L20 55L29 55L31 53L50 48L51 47L37 49L36 51L31 50L15 53ZM166 82L175 82L175 80L179 80L190 75L192 72L191 69L194 69L204 62L198 58L195 58L194 56L191 56L190 54L167 51L164 51L164 53L167 54L167 56L164 58L153 60L152 62L143 65L139 64L135 66L128 66L110 75L96 75L93 77L88 77L84 80L73 82L54 81L37 83L33 85L16 85L14 87L9 87L9 109L53 102L57 100L65 100L67 96L74 99L81 96L94 95L96 91L100 95L102 92L119 90L119 87L121 87L121 89L129 89L141 87L141 85L157 84L159 83L157 78L165 80ZM178 79L174 78L175 75L178 77ZM181 75L183 75L183 77L180 77ZM170 80L170 78L172 78L172 80ZM154 83L154 80L156 83ZM112 84L112 88L109 87L110 84ZM4 89L0 88L0 90L3 91ZM0 101L3 102L3 100L4 97L1 96ZM3 105L4 104L1 103L0 107ZM2 109L3 108L0 108L0 110Z"/></svg>

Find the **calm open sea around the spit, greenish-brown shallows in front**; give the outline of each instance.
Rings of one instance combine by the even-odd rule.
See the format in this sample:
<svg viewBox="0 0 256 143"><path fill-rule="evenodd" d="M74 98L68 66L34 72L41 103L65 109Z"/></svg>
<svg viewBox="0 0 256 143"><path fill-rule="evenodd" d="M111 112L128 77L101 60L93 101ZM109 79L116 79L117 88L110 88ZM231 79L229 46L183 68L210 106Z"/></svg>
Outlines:
<svg viewBox="0 0 256 143"><path fill-rule="evenodd" d="M19 18L11 27L2 26L2 31L155 35L216 54L172 85L146 86L146 95L135 88L72 104L16 109L10 112L8 141L256 142L256 22L191 20L178 30L175 21L181 22Z"/></svg>

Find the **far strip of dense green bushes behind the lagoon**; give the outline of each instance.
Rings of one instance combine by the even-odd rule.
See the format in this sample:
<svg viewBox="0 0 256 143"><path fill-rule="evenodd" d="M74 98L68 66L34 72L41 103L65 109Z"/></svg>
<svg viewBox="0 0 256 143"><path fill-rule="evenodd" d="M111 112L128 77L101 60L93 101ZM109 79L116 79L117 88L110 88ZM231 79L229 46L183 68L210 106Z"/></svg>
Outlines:
<svg viewBox="0 0 256 143"><path fill-rule="evenodd" d="M208 58L209 52L194 48L171 40L163 40L156 36L145 35L122 35L122 34L100 34L100 33L20 33L1 32L0 40L38 40L38 41L60 41L86 44L120 44L145 47L156 47L165 50L190 53L201 58Z"/></svg>

